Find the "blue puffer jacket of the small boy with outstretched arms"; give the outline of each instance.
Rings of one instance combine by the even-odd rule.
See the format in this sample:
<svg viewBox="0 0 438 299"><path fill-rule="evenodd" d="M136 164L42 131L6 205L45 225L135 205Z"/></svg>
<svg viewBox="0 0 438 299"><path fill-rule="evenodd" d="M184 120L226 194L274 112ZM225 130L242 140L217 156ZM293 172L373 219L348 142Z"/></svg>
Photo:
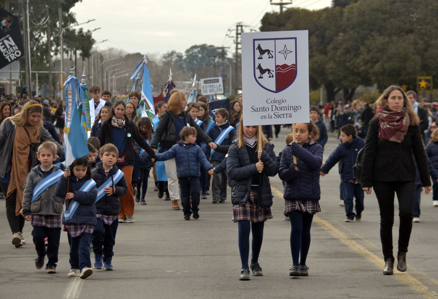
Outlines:
<svg viewBox="0 0 438 299"><path fill-rule="evenodd" d="M157 153L157 161L166 161L175 158L177 164L178 178L192 178L200 177L199 163L206 170L210 170L213 166L208 163L201 147L195 144L190 144L188 147L184 145L183 141L177 142L170 150L164 153Z"/></svg>

